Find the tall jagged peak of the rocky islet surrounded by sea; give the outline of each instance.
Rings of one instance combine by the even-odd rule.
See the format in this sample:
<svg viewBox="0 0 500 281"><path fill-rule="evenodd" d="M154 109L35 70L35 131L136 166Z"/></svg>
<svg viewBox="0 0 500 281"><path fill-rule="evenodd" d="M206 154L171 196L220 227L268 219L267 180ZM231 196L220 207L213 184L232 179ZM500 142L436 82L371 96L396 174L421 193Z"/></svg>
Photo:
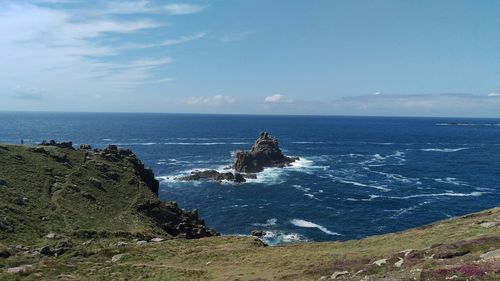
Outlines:
<svg viewBox="0 0 500 281"><path fill-rule="evenodd" d="M234 161L234 170L240 173L258 173L266 167L285 167L298 160L283 155L278 146L278 139L267 132L260 134L250 151L238 151Z"/></svg>

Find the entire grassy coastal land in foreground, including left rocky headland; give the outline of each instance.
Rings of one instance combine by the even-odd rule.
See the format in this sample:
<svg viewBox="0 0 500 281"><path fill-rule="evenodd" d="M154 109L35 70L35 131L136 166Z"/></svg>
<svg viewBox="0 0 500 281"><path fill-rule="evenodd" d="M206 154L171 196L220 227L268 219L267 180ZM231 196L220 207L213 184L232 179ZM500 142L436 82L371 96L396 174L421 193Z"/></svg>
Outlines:
<svg viewBox="0 0 500 281"><path fill-rule="evenodd" d="M269 247L160 202L153 172L128 149L0 145L0 167L0 280L500 280L498 208Z"/></svg>

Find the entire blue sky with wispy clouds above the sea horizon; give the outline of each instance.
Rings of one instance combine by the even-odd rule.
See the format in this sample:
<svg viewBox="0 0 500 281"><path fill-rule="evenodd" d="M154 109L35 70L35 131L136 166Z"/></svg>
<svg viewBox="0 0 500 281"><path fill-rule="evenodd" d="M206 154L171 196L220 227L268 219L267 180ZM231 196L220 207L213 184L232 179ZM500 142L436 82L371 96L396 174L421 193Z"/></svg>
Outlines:
<svg viewBox="0 0 500 281"><path fill-rule="evenodd" d="M500 1L0 0L0 110L500 117Z"/></svg>

